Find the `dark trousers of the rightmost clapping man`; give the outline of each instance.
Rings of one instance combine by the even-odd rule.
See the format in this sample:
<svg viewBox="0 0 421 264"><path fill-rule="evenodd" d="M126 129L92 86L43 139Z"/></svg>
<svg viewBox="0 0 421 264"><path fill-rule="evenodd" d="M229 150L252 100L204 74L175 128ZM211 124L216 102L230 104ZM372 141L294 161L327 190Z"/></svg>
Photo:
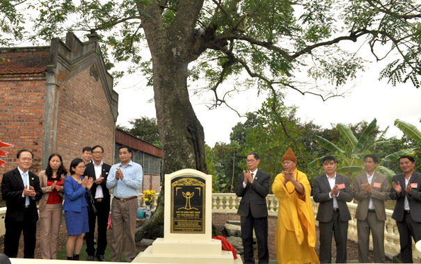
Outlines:
<svg viewBox="0 0 421 264"><path fill-rule="evenodd" d="M414 222L411 218L411 215L405 213L404 221L396 221L396 224L397 230L399 231L402 261L404 263L413 263L412 238L415 240L415 242L421 239L421 223Z"/></svg>

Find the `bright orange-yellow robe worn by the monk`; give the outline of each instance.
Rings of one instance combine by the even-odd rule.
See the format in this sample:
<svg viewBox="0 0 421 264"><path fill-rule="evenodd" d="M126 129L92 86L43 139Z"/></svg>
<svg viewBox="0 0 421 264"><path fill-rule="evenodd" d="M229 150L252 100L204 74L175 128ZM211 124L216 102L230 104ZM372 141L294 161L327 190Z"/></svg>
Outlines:
<svg viewBox="0 0 421 264"><path fill-rule="evenodd" d="M299 170L294 170L294 178L303 185L305 195L299 196L291 182L284 185L282 173L276 176L272 185L272 192L279 200L276 260L282 264L319 263L310 183Z"/></svg>

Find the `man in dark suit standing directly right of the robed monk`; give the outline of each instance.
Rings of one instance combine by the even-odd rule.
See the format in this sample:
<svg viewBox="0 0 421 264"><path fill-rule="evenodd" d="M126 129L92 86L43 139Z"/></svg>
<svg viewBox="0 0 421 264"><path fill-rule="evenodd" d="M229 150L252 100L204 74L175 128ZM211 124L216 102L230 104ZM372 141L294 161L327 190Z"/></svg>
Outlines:
<svg viewBox="0 0 421 264"><path fill-rule="evenodd" d="M322 159L325 174L313 181L313 199L319 202L316 220L319 221L320 263L331 263L332 233L335 234L336 263L347 263L348 221L351 220L347 201L352 192L347 176L336 173L336 159Z"/></svg>

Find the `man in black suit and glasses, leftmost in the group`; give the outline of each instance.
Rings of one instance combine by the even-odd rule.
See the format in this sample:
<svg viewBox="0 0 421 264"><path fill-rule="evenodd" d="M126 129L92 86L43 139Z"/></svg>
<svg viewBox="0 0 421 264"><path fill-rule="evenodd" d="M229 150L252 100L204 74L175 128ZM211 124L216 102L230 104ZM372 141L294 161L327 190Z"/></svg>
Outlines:
<svg viewBox="0 0 421 264"><path fill-rule="evenodd" d="M42 197L38 176L29 172L33 153L28 149L17 152L17 168L6 172L1 183L1 193L6 201L6 235L4 254L17 257L19 238L24 231L24 258L34 258L36 222L38 211L35 201Z"/></svg>

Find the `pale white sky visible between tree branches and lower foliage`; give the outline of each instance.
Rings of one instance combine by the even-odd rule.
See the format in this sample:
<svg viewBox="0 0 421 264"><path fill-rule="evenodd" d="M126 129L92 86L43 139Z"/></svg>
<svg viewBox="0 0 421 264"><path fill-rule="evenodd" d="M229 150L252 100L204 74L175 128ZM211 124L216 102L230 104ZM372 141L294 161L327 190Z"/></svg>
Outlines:
<svg viewBox="0 0 421 264"><path fill-rule="evenodd" d="M322 101L319 97L305 96L294 90L287 92L284 99L286 106L298 106L297 115L302 122L313 121L324 128L331 128L337 123L356 124L365 120L377 119L377 125L384 130L389 127L386 136L400 138L402 132L393 124L395 119L402 119L421 130L421 89L412 83L398 84L396 87L387 81L379 81L382 67L371 63L365 72L349 84L350 94ZM156 117L153 103L153 90L146 87L143 76L126 76L114 88L119 94L117 124L129 126L129 120L141 116ZM258 110L266 97L257 97L256 90L238 94L232 99L240 113ZM150 102L152 101L152 102ZM213 147L216 142L230 142L230 132L237 122L246 121L228 107L208 110L203 99L191 97L191 104L205 130L205 142Z"/></svg>

